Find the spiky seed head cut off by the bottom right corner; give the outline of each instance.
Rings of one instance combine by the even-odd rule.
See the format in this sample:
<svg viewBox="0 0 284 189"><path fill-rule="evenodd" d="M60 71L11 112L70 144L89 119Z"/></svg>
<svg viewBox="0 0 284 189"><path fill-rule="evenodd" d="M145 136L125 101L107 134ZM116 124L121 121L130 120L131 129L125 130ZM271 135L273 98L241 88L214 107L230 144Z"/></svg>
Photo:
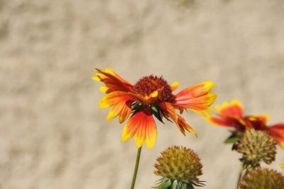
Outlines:
<svg viewBox="0 0 284 189"><path fill-rule="evenodd" d="M284 175L268 168L248 171L239 183L239 189L283 189Z"/></svg>

